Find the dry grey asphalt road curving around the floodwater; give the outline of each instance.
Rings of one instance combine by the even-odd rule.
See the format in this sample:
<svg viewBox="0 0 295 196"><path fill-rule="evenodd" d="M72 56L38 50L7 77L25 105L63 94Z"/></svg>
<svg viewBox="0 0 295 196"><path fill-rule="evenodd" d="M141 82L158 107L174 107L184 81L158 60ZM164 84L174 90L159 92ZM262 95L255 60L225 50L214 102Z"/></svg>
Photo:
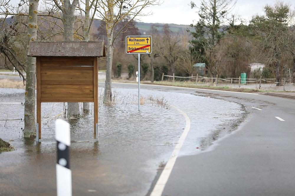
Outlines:
<svg viewBox="0 0 295 196"><path fill-rule="evenodd" d="M113 86L137 88L136 84ZM153 85L141 88L239 102L249 111L232 134L197 155L178 157L163 196L295 195L294 99Z"/></svg>

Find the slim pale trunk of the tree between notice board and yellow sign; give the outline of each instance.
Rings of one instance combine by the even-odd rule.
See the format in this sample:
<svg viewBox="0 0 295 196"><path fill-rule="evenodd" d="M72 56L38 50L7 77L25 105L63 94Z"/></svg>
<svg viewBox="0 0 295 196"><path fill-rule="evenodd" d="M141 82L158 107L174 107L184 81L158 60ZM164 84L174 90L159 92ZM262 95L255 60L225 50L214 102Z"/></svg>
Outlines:
<svg viewBox="0 0 295 196"><path fill-rule="evenodd" d="M106 80L104 82L104 103L109 103L112 99L112 63L113 63L113 17L114 0L108 1L108 12L106 16L106 34L107 34L107 53L106 53Z"/></svg>

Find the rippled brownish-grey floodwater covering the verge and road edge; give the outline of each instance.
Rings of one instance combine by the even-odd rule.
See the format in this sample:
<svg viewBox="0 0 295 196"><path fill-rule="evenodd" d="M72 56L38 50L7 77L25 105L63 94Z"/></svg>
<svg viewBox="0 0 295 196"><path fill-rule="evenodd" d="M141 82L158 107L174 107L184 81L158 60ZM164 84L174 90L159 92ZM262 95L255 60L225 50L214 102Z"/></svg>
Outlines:
<svg viewBox="0 0 295 196"><path fill-rule="evenodd" d="M191 121L180 156L206 150L245 115L237 103L145 89L139 112L137 89L114 91L115 104L99 107L99 143L93 139L93 114L69 121L73 195L146 195L186 126L174 107ZM149 101L150 95L164 104ZM21 102L24 90L0 89L0 138L16 148L0 154L0 195L56 195L54 121L63 116L63 103L42 103L42 142L36 144L22 137L22 120L6 121L23 119Z"/></svg>

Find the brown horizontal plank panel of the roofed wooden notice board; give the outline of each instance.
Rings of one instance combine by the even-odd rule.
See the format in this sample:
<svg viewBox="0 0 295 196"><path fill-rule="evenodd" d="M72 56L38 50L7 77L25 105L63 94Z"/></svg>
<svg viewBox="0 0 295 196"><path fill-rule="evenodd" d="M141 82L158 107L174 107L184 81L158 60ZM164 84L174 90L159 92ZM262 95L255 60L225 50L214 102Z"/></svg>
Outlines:
<svg viewBox="0 0 295 196"><path fill-rule="evenodd" d="M41 102L94 102L93 57L41 57Z"/></svg>

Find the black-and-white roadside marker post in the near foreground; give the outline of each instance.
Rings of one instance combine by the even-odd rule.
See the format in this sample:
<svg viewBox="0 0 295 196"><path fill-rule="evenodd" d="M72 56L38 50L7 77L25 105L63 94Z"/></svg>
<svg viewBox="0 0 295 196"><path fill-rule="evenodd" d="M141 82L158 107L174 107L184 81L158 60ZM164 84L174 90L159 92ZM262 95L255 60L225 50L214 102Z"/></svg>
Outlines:
<svg viewBox="0 0 295 196"><path fill-rule="evenodd" d="M70 170L69 147L71 145L70 124L55 121L57 141L56 190L57 196L72 196L72 172Z"/></svg>

